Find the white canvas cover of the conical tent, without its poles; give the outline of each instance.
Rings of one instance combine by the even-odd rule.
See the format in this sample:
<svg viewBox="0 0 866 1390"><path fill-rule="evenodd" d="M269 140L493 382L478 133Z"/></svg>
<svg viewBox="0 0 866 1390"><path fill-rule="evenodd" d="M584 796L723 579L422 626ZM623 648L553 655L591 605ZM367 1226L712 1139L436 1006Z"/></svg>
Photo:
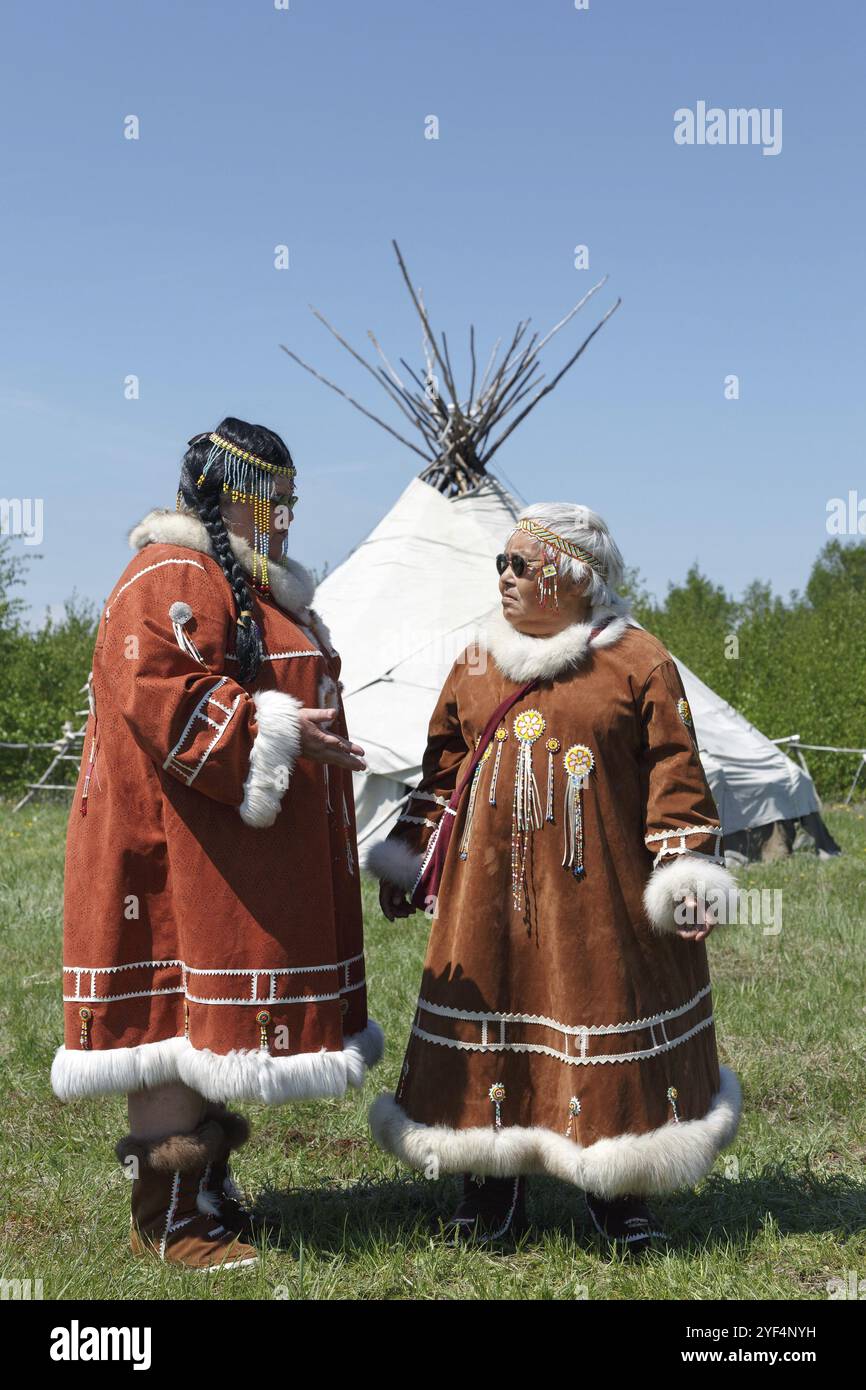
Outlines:
<svg viewBox="0 0 866 1390"><path fill-rule="evenodd" d="M420 776L427 726L455 657L498 606L493 556L520 507L488 475L445 498L413 478L366 541L327 575L316 607L342 656L359 842L384 838ZM809 774L677 659L726 834L819 809Z"/></svg>

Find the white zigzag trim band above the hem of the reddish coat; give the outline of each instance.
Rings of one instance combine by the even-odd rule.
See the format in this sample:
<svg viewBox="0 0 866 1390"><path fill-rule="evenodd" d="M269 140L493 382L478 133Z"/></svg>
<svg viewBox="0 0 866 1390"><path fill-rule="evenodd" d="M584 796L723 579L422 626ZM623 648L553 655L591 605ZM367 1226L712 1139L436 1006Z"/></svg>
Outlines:
<svg viewBox="0 0 866 1390"><path fill-rule="evenodd" d="M260 967L232 967L232 969L210 969L185 965L183 960L136 960L131 965L114 965L114 966L64 966L64 988L67 988L65 976L70 976L68 991L64 992L64 1004L113 1004L120 999L140 999L153 998L163 994L182 994L190 1004L324 1004L329 999L339 999L343 994L352 994L354 990L361 990L366 984L366 977L363 972L363 954L356 956L349 956L346 960L338 960L334 965L309 965L309 966L275 966L272 970ZM360 963L360 970L353 969ZM142 990L124 990L120 994L97 992L101 986L99 977L110 977L118 974L120 972L139 970L142 972L142 984L150 980L154 984L153 976L156 972L164 973L165 980L161 981L160 988L142 988ZM291 984L292 979L300 976L321 976L332 974L335 979L328 981L325 991L320 994L288 994L286 986ZM342 981L341 981L342 974ZM89 992L82 991L82 977L90 976L89 981L85 980L85 986L89 984ZM217 980L231 977L238 981L236 995L218 995L207 994L210 987L217 987ZM190 992L190 981L200 980L200 984L193 984L199 994ZM264 980L265 984L261 986L260 981ZM175 983L172 983L175 981ZM243 981L243 983L242 983ZM138 981L131 981L138 983ZM324 981L322 981L324 983ZM243 994L240 992L243 990Z"/></svg>

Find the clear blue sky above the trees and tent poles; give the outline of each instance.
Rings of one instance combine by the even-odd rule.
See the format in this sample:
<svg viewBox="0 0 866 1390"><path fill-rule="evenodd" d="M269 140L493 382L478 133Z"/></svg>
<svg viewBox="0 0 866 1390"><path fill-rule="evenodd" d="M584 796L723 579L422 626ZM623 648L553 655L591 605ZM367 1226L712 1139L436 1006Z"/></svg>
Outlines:
<svg viewBox="0 0 866 1390"><path fill-rule="evenodd" d="M452 343L607 272L621 309L498 463L606 516L659 595L695 559L802 588L827 500L866 492L865 39L841 0L7 3L0 493L44 499L33 613L103 600L229 413L295 455L302 562L370 531L420 460L278 345L388 410L307 304L417 360L392 236ZM699 100L780 107L781 153L676 145Z"/></svg>

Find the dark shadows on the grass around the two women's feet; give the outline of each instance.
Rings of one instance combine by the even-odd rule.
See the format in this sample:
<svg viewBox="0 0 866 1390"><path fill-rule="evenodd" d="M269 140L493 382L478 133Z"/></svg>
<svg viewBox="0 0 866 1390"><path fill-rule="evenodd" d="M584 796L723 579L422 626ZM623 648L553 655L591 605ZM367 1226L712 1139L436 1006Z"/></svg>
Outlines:
<svg viewBox="0 0 866 1390"><path fill-rule="evenodd" d="M271 1244L279 1250L350 1254L388 1244L417 1247L435 1238L459 1191L455 1176L431 1183L375 1173L350 1184L268 1188L259 1195L254 1211L271 1223ZM532 1177L527 1198L530 1230L520 1241L521 1250L548 1237L573 1241L587 1251L607 1248L591 1223L580 1188ZM844 1175L824 1177L809 1169L791 1173L773 1166L740 1180L712 1176L699 1191L656 1198L651 1208L669 1236L660 1250L680 1255L716 1247L735 1251L765 1232L767 1220L780 1236L855 1234L866 1227L866 1184Z"/></svg>

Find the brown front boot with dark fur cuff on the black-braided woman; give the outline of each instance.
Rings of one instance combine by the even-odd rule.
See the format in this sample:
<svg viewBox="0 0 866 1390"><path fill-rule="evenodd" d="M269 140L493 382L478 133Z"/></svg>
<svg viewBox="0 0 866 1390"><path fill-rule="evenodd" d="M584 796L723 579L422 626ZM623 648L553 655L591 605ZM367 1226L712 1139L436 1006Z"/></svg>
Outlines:
<svg viewBox="0 0 866 1390"><path fill-rule="evenodd" d="M135 1255L152 1254L200 1270L259 1262L256 1247L214 1215L207 1190L203 1195L209 1166L228 1159L229 1133L220 1119L206 1116L192 1133L154 1143L128 1134L115 1152L133 1179L129 1243Z"/></svg>

